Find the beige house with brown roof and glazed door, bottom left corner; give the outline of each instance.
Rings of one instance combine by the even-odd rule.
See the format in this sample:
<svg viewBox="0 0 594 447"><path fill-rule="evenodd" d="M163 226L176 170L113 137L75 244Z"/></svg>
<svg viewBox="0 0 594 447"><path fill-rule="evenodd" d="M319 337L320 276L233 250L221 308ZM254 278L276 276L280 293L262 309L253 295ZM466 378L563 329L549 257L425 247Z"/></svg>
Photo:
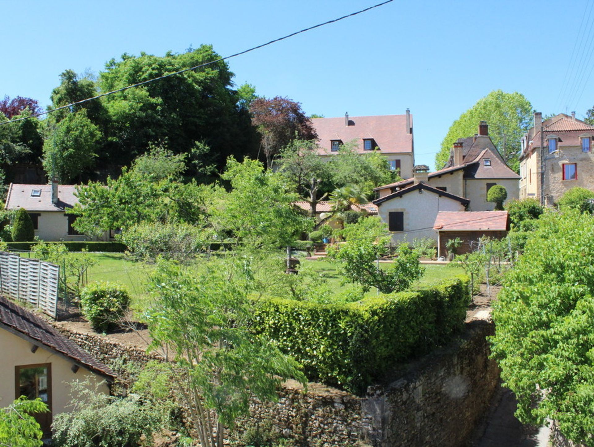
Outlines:
<svg viewBox="0 0 594 447"><path fill-rule="evenodd" d="M0 407L19 396L40 398L50 412L36 419L50 436L53 415L70 411L72 380L109 393L115 373L33 313L0 296Z"/></svg>

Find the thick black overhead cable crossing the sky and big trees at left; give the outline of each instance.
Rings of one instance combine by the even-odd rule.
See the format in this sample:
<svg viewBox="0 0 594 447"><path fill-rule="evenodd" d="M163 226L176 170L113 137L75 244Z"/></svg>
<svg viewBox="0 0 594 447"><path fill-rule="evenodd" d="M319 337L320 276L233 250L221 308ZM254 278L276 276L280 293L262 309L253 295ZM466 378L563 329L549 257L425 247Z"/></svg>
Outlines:
<svg viewBox="0 0 594 447"><path fill-rule="evenodd" d="M343 20L345 18L349 18L349 17L353 17L354 15L362 14L363 12L366 12L366 11L372 10L374 8L378 8L380 6L386 5L386 4L388 4L388 3L392 2L392 1L394 1L394 0L386 0L384 2L378 3L377 5L370 6L368 8L363 9L363 10L359 10L359 11L356 11L356 12L351 12L350 14L343 15L342 17L339 17L339 18L334 18L333 20L328 20L328 21L326 21L324 23L318 23L317 25L310 26L308 28L304 28L304 29L299 30L299 31L296 31L294 33L287 34L286 36L279 37L278 39L270 40L270 42L262 43L261 45L257 45L257 46L252 46L252 48L248 48L247 50L240 51L240 52L235 53L235 54L232 54L230 56L225 56L224 58L219 58L219 59L215 59L214 61L206 62L206 64L200 64L200 65L196 65L195 67L184 68L184 70L175 71L173 73L167 73L167 74L164 74L162 76L158 76L156 78L152 78L152 79L149 79L149 80L146 80L146 81L142 81L142 82L139 82L139 83L136 83L136 84L131 84L129 86L122 87L121 89L118 89L118 90L112 90L111 92L102 93L101 95L93 96L93 97L90 97L90 98L87 98L87 99L81 99L80 101L72 102L72 103L69 103L69 104L64 105L64 106L56 107L55 109L49 109L49 110L46 110L45 112L39 112L37 114L32 114L32 115L29 115L28 117L17 118L17 119L10 119L8 121L3 121L3 122L0 122L0 125L8 124L9 122L23 121L23 119L29 119L29 118L33 118L33 117L40 117L41 115L47 115L47 114L50 114L52 112L56 112L56 111L59 111L59 110L62 110L62 109L71 108L74 105L78 105L78 104L82 104L82 103L85 103L85 102L89 102L89 101L92 101L94 99L99 99L100 97L103 97L103 96L113 95L113 93L124 92L124 90L132 89L133 87L143 86L144 84L149 84L151 82L158 81L158 80L161 80L161 79L165 79L165 78L168 78L170 76L174 76L174 75L177 75L177 74L182 74L182 73L185 73L186 71L197 70L198 68L206 67L207 65L216 64L217 62L226 61L227 59L235 58L236 56L240 56L242 54L249 53L251 51L254 51L254 50L263 48L264 46L268 46L268 45L271 45L273 43L280 42L281 40L289 39L289 37L296 36L297 34L305 33L307 31L311 31L313 29L320 28L322 26L326 26L328 24L335 23L337 21Z"/></svg>

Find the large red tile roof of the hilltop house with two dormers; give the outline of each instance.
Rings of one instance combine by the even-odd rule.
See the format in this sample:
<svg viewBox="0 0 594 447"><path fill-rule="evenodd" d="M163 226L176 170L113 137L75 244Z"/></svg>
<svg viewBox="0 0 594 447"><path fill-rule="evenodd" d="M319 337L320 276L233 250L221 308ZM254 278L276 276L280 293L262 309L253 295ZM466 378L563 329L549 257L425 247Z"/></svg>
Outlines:
<svg viewBox="0 0 594 447"><path fill-rule="evenodd" d="M318 134L318 153L331 153L331 140L347 143L356 140L358 152L363 149L363 139L372 138L381 153L406 153L413 150L412 133L406 133L406 115L378 115L375 117L349 117L350 125L345 125L345 117L313 118L312 123ZM412 115L410 115L412 127Z"/></svg>

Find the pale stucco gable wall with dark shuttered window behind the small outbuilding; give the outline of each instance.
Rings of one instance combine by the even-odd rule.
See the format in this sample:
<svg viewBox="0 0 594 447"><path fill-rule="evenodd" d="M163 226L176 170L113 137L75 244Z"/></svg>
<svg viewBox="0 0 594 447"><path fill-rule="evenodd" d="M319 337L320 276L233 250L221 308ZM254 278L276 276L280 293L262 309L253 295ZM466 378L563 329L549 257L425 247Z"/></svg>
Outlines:
<svg viewBox="0 0 594 447"><path fill-rule="evenodd" d="M464 205L457 200L448 197L438 196L431 191L412 191L402 197L388 200L378 206L380 219L388 222L390 212L404 212L403 232L395 232L392 240L412 242L414 238L428 237L435 240L437 244L437 232L433 229L435 217L440 211L464 211Z"/></svg>

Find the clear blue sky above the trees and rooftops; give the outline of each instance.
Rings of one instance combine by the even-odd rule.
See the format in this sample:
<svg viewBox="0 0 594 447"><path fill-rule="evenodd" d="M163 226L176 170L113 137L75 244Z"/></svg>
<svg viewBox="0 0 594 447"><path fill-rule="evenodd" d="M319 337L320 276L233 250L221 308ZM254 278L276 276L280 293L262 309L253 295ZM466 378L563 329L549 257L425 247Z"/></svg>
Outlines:
<svg viewBox="0 0 594 447"><path fill-rule="evenodd" d="M307 114L410 108L416 162L432 166L451 122L494 89L523 93L544 114L583 117L594 105L594 12L582 24L593 1L394 1L229 65L236 84L290 97ZM201 43L229 55L378 2L0 0L0 96L45 106L67 68L98 73L124 52L163 55ZM566 76L574 44L584 52Z"/></svg>

